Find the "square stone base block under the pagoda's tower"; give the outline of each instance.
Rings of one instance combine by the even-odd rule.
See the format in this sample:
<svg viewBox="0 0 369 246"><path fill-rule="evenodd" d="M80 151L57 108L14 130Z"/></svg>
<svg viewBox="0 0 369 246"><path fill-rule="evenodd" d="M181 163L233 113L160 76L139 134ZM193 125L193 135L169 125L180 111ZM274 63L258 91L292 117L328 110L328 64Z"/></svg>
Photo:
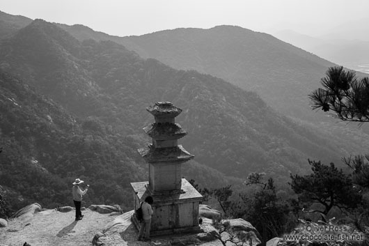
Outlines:
<svg viewBox="0 0 369 246"><path fill-rule="evenodd" d="M182 178L180 192L152 192L148 188L148 181L131 183L131 186L134 191L134 210L139 208L146 197L154 199L150 236L202 231L198 226L198 206L203 197L185 178ZM132 216L132 222L137 229L140 228L135 215Z"/></svg>

